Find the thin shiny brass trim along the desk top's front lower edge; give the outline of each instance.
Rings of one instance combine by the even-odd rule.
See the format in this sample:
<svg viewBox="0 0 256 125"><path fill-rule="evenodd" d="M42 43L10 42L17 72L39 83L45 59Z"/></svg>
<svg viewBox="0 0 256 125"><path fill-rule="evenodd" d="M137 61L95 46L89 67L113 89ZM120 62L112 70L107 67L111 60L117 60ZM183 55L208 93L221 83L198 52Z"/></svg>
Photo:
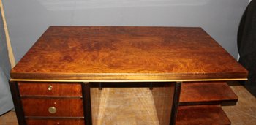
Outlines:
<svg viewBox="0 0 256 125"><path fill-rule="evenodd" d="M199 82L199 81L227 81L227 80L248 80L247 78L231 79L191 79L191 80L33 80L33 79L10 79L10 81L24 82Z"/></svg>

